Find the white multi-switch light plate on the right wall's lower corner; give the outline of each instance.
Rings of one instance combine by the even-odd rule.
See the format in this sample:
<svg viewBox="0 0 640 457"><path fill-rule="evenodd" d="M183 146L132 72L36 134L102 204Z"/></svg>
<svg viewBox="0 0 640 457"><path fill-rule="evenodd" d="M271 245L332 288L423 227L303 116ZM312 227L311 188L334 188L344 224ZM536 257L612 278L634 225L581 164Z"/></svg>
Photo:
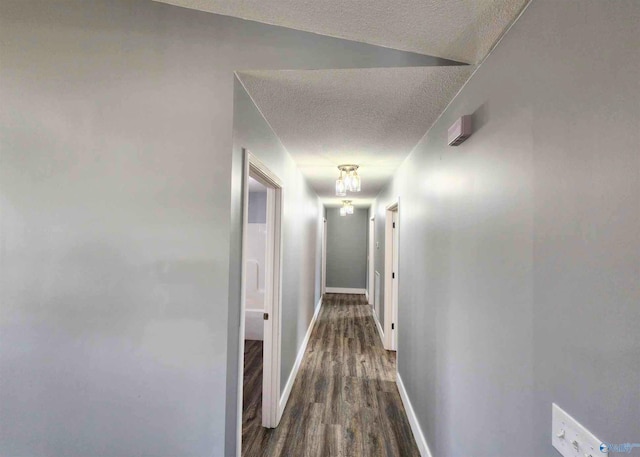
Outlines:
<svg viewBox="0 0 640 457"><path fill-rule="evenodd" d="M551 443L564 457L603 457L598 438L558 405L551 407Z"/></svg>

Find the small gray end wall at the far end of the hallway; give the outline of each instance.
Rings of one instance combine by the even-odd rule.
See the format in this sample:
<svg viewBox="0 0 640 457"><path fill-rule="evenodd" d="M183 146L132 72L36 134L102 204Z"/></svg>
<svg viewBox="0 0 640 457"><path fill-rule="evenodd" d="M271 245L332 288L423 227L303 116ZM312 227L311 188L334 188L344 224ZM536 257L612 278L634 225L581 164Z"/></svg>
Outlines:
<svg viewBox="0 0 640 457"><path fill-rule="evenodd" d="M339 208L327 208L327 287L366 287L367 221L367 209L340 216Z"/></svg>

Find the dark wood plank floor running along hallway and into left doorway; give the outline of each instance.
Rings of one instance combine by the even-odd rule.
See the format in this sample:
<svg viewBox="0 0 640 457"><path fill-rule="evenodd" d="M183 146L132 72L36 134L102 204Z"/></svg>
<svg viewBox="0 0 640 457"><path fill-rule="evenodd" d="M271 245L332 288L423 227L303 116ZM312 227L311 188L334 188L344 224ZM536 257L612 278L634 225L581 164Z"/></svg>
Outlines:
<svg viewBox="0 0 640 457"><path fill-rule="evenodd" d="M261 427L262 342L245 342L242 455L419 456L362 295L327 294L277 429Z"/></svg>

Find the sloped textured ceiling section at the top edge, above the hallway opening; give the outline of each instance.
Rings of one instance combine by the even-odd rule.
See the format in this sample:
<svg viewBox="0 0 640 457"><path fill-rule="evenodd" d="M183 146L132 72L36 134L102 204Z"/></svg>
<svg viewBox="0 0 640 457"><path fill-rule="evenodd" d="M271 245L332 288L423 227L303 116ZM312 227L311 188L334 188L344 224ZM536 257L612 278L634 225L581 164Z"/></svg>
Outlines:
<svg viewBox="0 0 640 457"><path fill-rule="evenodd" d="M157 0L466 63L478 63L528 0Z"/></svg>

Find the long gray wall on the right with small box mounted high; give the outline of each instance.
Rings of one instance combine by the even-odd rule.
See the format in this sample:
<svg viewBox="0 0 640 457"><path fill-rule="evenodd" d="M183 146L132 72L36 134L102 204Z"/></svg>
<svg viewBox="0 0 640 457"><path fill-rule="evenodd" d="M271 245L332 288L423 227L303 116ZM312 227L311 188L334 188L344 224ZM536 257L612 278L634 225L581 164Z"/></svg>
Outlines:
<svg viewBox="0 0 640 457"><path fill-rule="evenodd" d="M382 246L400 196L399 372L434 456L557 456L552 402L640 439L638 24L533 1L377 199Z"/></svg>

